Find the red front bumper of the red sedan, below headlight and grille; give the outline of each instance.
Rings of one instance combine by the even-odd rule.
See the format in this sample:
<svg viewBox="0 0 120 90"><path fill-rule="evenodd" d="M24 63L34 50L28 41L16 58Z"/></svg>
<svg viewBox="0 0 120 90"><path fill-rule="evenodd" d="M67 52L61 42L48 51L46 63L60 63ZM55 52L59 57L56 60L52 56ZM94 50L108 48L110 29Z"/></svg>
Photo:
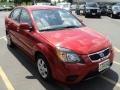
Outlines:
<svg viewBox="0 0 120 90"><path fill-rule="evenodd" d="M110 60L110 66L113 63L113 56L114 56L113 52L111 51L111 54L109 55L109 57L106 58ZM54 70L53 70L54 79L60 82L63 82L65 84L75 84L80 82L83 79L93 77L104 71L103 70L101 72L98 72L98 65L100 62L104 60L92 62L89 60L89 57L87 55L83 55L82 58L84 58L85 60L83 64L62 63L61 66L57 65L57 67L54 67Z"/></svg>

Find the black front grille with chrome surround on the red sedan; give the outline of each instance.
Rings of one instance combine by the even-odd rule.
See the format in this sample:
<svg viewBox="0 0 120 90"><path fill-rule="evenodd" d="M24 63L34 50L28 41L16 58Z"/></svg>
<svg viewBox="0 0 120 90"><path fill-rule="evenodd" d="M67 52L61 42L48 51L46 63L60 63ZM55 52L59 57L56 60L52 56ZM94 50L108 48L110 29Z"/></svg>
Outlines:
<svg viewBox="0 0 120 90"><path fill-rule="evenodd" d="M110 50L109 50L109 48L107 48L107 49L101 50L99 52L89 54L89 58L92 61L96 61L96 60L99 60L99 59L106 58L109 55L109 53L110 53Z"/></svg>

